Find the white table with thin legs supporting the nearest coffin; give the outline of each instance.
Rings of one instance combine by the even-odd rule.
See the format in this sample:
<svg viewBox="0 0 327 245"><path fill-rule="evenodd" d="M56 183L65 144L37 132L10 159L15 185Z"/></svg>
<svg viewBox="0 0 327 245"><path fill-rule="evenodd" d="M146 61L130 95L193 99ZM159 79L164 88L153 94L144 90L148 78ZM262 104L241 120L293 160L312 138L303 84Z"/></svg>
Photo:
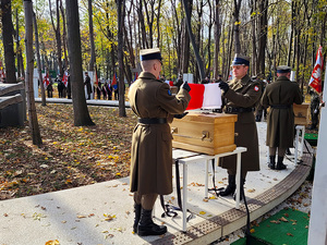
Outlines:
<svg viewBox="0 0 327 245"><path fill-rule="evenodd" d="M205 161L205 197L208 197L208 166L211 160L215 159L215 162L218 162L219 158L237 155L237 204L235 208L240 208L240 174L241 174L241 154L245 152L247 149L245 147L238 147L235 150L230 152L218 154L215 156L196 154L193 151L173 149L172 158L179 159L179 163L183 166L183 192L182 192L182 208L183 208L183 231L186 231L186 212L187 212L187 164L195 162ZM215 174L215 173L213 173ZM178 176L175 176L178 177Z"/></svg>

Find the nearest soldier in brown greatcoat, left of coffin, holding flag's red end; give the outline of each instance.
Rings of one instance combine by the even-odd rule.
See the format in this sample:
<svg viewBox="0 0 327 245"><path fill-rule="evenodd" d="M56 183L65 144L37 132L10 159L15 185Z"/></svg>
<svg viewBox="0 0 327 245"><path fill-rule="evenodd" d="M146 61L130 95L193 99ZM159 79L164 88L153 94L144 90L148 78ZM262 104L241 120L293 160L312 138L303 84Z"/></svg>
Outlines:
<svg viewBox="0 0 327 245"><path fill-rule="evenodd" d="M140 51L143 72L131 85L129 100L138 117L131 149L131 192L134 193L134 232L138 235L160 235L165 225L152 220L152 210L158 195L172 192L173 118L182 118L191 96L187 83L173 96L167 83L159 79L161 53L159 49ZM183 113L184 112L184 113Z"/></svg>

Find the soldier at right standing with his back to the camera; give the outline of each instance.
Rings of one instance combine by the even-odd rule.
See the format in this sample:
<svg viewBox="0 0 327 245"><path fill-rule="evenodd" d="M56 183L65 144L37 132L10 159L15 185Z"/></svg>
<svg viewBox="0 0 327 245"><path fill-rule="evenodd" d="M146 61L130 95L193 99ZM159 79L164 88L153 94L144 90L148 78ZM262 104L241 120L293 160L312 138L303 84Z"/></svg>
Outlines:
<svg viewBox="0 0 327 245"><path fill-rule="evenodd" d="M267 85L261 103L270 107L267 118L266 145L269 147L270 169L283 170L283 156L288 147L293 147L294 113L293 103L301 105L303 98L299 85L290 81L291 68L280 65L277 68L277 79ZM276 151L278 160L276 164Z"/></svg>

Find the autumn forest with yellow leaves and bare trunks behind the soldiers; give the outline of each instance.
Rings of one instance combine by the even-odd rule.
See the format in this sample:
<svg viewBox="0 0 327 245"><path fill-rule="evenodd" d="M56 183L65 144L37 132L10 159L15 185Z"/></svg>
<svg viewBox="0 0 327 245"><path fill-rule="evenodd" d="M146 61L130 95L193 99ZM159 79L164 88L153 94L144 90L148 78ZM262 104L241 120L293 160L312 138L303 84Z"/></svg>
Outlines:
<svg viewBox="0 0 327 245"><path fill-rule="evenodd" d="M12 45L19 77L24 76L25 61L22 2L1 1L2 13L11 3L12 20L2 14L0 60L4 60L4 46ZM118 2L123 7L120 23ZM65 7L62 0L35 0L33 4L43 70L63 75L70 66ZM326 56L326 0L80 0L78 11L83 70L96 68L102 78L118 74L118 30L122 29L123 74L129 84L135 78L133 71L140 69L143 48L161 49L162 75L169 79L182 73L194 74L195 82L218 74L227 79L232 57L240 52L252 59L251 75L262 78L272 79L277 65L292 66L302 89L319 45ZM5 36L14 42L5 41Z"/></svg>

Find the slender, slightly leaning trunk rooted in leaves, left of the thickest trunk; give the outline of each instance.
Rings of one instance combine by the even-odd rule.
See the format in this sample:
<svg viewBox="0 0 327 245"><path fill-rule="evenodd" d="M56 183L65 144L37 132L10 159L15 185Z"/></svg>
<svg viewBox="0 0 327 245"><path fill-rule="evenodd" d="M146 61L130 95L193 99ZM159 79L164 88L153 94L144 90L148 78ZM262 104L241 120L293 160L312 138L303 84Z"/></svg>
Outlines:
<svg viewBox="0 0 327 245"><path fill-rule="evenodd" d="M25 87L27 97L27 109L29 128L32 132L33 145L40 146L43 139L40 136L37 114L34 100L33 89L33 70L34 70L34 53L33 53L33 3L32 0L24 0L24 12L25 12L25 46L26 46L26 76Z"/></svg>

